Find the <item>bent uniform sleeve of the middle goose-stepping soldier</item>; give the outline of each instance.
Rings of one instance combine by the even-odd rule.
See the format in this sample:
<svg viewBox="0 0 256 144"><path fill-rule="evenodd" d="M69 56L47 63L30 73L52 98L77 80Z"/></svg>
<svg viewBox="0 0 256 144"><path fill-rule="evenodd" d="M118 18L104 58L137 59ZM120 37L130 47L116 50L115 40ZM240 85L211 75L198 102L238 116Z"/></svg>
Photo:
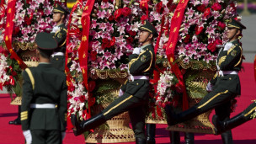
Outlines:
<svg viewBox="0 0 256 144"><path fill-rule="evenodd" d="M129 71L131 75L141 75L143 72L147 72L152 67L153 52L141 51L140 55L133 54L129 56Z"/></svg>

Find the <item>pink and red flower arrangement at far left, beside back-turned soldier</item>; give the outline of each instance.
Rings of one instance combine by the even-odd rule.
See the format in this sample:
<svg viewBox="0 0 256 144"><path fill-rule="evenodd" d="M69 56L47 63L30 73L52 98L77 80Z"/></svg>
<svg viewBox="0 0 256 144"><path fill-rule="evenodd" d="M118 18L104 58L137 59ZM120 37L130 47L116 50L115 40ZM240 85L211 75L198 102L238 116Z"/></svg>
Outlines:
<svg viewBox="0 0 256 144"><path fill-rule="evenodd" d="M35 56L26 56L24 51L35 51L35 35L42 31L49 31L54 24L52 14L54 3L61 3L53 0L27 0L17 1L15 4L15 16L13 19L13 51L21 57L23 61L38 61ZM1 46L1 79L0 87L6 87L8 93L16 93L21 96L22 77L21 67L18 61L13 59L3 40L6 27L7 3L1 4L0 10L0 46ZM22 51L21 51L22 50ZM28 65L29 66L29 65Z"/></svg>

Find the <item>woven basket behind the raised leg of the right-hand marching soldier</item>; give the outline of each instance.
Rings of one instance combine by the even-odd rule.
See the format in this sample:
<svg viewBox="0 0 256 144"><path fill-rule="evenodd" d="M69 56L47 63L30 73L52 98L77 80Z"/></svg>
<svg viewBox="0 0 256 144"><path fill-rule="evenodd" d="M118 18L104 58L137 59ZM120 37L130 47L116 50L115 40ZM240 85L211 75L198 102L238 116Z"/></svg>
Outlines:
<svg viewBox="0 0 256 144"><path fill-rule="evenodd" d="M190 70L184 74L184 79L188 77L195 77L193 80L185 80L185 84L189 89L189 107L194 106L195 104L200 102L206 91L202 93L201 90L196 90L193 87L204 89L206 88L207 83L213 77L215 71L211 69L205 70ZM199 98L200 97L200 98ZM184 131L184 132L192 132L192 133L205 133L205 134L214 134L214 126L211 124L209 120L209 116L211 114L211 110L195 117L192 120L185 121L184 123L179 123L177 125L168 126L168 131Z"/></svg>

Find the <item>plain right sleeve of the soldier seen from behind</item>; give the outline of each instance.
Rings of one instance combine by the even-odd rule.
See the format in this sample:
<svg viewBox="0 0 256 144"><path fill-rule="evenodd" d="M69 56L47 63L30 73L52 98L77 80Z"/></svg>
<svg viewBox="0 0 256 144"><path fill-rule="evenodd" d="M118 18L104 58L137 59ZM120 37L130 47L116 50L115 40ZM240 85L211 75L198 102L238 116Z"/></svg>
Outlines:
<svg viewBox="0 0 256 144"><path fill-rule="evenodd" d="M61 131L66 131L67 125L67 83L66 77L63 81L62 88L61 88L61 97L58 104L58 112L61 119Z"/></svg>

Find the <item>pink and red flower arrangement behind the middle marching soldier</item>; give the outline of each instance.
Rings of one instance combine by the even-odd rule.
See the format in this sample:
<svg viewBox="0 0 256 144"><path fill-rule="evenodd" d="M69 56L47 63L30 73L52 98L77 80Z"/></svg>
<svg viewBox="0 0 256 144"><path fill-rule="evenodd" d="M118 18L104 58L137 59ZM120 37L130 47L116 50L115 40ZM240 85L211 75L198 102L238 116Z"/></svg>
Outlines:
<svg viewBox="0 0 256 144"><path fill-rule="evenodd" d="M147 19L147 9L138 0L124 0L123 7L116 8L111 0L96 1L91 13L88 49L88 75L98 71L127 72L128 56L134 47L138 46L137 32L141 22ZM157 4L159 3L159 4ZM68 89L69 111L76 113L81 119L87 119L84 109L88 109L88 93L83 84L83 73L79 65L78 48L82 40L81 17L86 1L78 3L77 9L71 15L70 43L67 45L68 63L72 81ZM154 1L149 3L148 19L161 29L163 15L168 15L168 1ZM169 4L172 5L172 4ZM160 9L157 11L157 9ZM162 10L161 10L162 9ZM157 11L157 12L154 12ZM156 19L157 18L157 19ZM169 17L166 16L166 19ZM169 19L170 20L170 19ZM158 53L164 54L163 43L167 42L169 21L165 20L166 27L163 38L160 39ZM89 78L89 87L94 87L93 79ZM78 90L79 89L79 90ZM82 93L83 92L83 93ZM84 99L81 101L81 98ZM96 101L97 100L93 100Z"/></svg>

